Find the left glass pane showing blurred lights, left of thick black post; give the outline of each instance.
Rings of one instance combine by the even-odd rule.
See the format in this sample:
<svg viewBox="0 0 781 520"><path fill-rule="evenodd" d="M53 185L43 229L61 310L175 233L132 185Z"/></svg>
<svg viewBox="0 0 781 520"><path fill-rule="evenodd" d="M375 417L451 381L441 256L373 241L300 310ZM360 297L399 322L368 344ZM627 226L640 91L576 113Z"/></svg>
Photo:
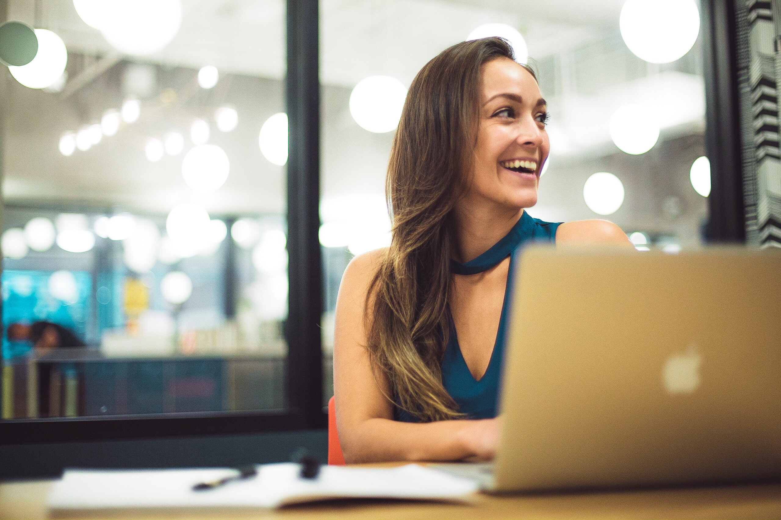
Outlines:
<svg viewBox="0 0 781 520"><path fill-rule="evenodd" d="M284 2L7 3L2 419L284 409Z"/></svg>

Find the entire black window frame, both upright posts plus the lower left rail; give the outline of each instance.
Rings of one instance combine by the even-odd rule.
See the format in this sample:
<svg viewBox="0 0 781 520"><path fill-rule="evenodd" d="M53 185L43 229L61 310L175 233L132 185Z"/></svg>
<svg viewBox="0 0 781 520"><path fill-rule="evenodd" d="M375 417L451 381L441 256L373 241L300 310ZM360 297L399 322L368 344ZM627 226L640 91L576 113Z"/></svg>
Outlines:
<svg viewBox="0 0 781 520"><path fill-rule="evenodd" d="M701 2L705 133L712 178L708 237L714 242L745 241L733 11L732 2ZM7 2L0 0L0 20L5 20L6 12ZM286 19L285 81L290 128L290 158L287 164L287 247L290 257L287 409L178 413L175 416L0 420L0 445L220 436L319 430L326 426L319 329L323 310L323 273L318 239L319 0L287 0ZM3 112L0 103L0 123L4 119ZM0 175L3 137L0 132Z"/></svg>

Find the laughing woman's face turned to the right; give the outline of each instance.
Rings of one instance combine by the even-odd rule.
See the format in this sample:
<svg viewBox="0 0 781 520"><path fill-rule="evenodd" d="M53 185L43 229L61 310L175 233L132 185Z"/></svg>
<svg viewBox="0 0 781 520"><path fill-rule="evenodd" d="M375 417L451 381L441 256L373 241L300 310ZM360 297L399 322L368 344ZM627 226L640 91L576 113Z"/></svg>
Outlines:
<svg viewBox="0 0 781 520"><path fill-rule="evenodd" d="M509 58L482 68L480 124L467 198L515 209L537 203L550 143L547 105L533 76Z"/></svg>

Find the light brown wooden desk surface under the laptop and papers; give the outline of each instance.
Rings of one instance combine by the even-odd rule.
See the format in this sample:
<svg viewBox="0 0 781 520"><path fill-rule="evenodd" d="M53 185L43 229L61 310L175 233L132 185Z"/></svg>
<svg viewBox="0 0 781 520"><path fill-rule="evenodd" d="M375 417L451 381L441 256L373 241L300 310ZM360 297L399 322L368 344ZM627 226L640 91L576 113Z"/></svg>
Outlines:
<svg viewBox="0 0 781 520"><path fill-rule="evenodd" d="M45 498L52 483L0 484L0 518L48 518ZM128 511L110 518L781 518L781 483L512 497L480 494L470 505L336 501L281 511L177 511L162 515Z"/></svg>

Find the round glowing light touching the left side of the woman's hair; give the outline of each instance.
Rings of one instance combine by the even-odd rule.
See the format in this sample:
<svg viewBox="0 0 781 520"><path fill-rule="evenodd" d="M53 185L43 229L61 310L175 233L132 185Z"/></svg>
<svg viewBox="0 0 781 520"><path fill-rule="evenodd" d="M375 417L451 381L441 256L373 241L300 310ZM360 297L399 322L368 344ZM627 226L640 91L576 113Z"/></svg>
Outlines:
<svg viewBox="0 0 781 520"><path fill-rule="evenodd" d="M369 76L360 80L350 94L350 114L362 129L391 132L398 126L407 89L391 76Z"/></svg>

